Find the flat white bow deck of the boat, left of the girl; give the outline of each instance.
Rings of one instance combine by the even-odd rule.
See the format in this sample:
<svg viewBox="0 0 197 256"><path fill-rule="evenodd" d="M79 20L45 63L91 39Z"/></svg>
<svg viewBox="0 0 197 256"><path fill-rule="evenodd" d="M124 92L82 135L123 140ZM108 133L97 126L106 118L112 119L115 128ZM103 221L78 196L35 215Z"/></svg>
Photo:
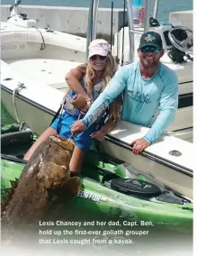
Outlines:
<svg viewBox="0 0 197 256"><path fill-rule="evenodd" d="M64 59L7 59L11 69L15 69L32 80L67 91L65 76L70 69L76 68L79 62Z"/></svg>

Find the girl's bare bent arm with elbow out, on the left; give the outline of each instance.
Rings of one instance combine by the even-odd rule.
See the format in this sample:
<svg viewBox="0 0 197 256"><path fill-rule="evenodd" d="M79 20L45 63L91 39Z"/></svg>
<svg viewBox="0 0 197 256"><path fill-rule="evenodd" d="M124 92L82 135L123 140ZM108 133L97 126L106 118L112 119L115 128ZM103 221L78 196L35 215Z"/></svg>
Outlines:
<svg viewBox="0 0 197 256"><path fill-rule="evenodd" d="M87 96L87 94L85 93L85 89L84 87L82 87L82 85L80 84L80 79L82 78L82 72L79 71L78 69L72 69L70 70L65 79L67 81L67 85L68 87L71 88L71 90L73 90L77 95L81 94L82 96L85 97L86 101L90 100L90 97Z"/></svg>

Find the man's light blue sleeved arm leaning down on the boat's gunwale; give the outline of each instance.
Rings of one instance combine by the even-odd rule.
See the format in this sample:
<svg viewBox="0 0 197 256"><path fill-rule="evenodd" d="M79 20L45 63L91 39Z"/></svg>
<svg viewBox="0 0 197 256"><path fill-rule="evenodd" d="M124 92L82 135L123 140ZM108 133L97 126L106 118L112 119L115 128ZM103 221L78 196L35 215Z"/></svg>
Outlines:
<svg viewBox="0 0 197 256"><path fill-rule="evenodd" d="M178 107L178 78L172 73L172 76L166 82L162 91L159 103L160 114L153 123L144 139L152 143L166 131L166 128L175 119L175 112Z"/></svg>

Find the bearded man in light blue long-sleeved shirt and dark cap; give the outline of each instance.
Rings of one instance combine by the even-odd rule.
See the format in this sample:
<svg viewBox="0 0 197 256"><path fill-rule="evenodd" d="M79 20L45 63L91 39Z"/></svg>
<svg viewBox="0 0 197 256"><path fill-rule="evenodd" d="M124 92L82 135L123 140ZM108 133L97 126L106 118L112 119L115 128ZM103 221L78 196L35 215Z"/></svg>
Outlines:
<svg viewBox="0 0 197 256"><path fill-rule="evenodd" d="M151 127L143 138L131 142L134 154L144 151L165 132L174 121L178 105L177 76L159 61L164 50L157 32L142 34L138 55L139 62L118 69L85 117L71 126L72 133L85 131L122 91L121 119ZM157 109L159 114L155 118Z"/></svg>

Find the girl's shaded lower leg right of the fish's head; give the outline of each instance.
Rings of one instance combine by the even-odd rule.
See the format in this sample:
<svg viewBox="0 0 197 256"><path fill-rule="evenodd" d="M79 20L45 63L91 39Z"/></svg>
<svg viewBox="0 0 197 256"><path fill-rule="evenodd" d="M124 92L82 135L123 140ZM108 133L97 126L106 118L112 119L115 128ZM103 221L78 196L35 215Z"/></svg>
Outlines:
<svg viewBox="0 0 197 256"><path fill-rule="evenodd" d="M77 172L77 173L81 172L84 157L85 157L84 151L82 151L79 147L75 146L72 158L70 160L70 165L69 165L71 172Z"/></svg>

